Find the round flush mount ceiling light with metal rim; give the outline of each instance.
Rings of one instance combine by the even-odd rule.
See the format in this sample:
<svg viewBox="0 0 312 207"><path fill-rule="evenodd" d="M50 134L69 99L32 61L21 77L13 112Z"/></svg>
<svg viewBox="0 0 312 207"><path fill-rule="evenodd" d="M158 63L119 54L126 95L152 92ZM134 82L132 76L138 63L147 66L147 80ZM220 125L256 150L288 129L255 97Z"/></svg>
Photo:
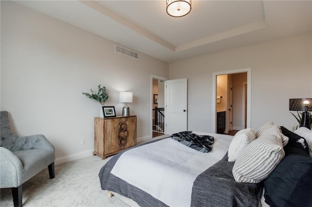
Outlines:
<svg viewBox="0 0 312 207"><path fill-rule="evenodd" d="M183 17L190 13L192 0L166 0L167 13L172 17Z"/></svg>

